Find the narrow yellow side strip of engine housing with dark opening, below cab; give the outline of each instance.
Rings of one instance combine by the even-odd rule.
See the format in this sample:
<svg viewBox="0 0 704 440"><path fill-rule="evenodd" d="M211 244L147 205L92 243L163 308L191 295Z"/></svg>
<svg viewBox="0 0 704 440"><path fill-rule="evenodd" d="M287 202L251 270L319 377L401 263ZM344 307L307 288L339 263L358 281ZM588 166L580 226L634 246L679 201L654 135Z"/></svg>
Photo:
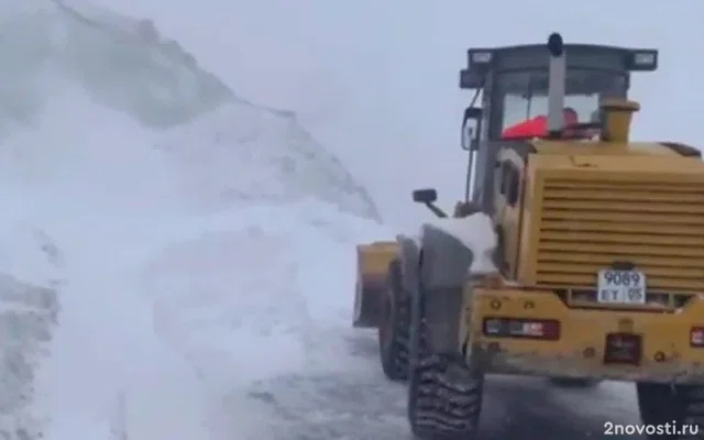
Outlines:
<svg viewBox="0 0 704 440"><path fill-rule="evenodd" d="M518 245L520 243L520 218L524 160L512 148L503 148L498 154L499 179L496 182L495 224L499 230L498 245L502 246L499 268L509 279L516 278L518 268Z"/></svg>

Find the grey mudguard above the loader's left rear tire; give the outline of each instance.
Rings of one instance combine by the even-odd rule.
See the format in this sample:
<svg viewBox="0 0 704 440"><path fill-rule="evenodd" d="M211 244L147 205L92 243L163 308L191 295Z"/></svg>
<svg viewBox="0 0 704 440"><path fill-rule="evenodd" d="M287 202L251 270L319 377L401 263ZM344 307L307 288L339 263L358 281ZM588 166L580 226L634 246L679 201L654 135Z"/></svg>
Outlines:
<svg viewBox="0 0 704 440"><path fill-rule="evenodd" d="M462 294L473 261L473 251L458 238L424 224L418 301L426 319L426 343L433 353L459 350Z"/></svg>

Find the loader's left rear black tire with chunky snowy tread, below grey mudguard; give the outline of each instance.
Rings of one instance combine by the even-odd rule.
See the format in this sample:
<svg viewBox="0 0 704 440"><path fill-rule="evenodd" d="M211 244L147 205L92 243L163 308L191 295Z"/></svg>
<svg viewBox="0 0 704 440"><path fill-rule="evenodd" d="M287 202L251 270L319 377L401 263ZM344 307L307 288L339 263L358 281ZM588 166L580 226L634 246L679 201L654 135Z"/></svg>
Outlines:
<svg viewBox="0 0 704 440"><path fill-rule="evenodd" d="M426 343L424 295L414 301L408 421L419 440L472 440L479 430L483 376L459 356L431 353Z"/></svg>

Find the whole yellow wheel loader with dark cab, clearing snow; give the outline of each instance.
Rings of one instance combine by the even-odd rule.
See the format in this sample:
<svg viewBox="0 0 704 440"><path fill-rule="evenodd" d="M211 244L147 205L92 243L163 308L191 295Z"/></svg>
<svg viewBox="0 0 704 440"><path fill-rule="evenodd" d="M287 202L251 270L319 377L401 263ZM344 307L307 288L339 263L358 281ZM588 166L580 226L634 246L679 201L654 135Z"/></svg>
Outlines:
<svg viewBox="0 0 704 440"><path fill-rule="evenodd" d="M358 249L354 324L377 328L387 375L408 378L416 438L473 439L488 374L632 382L644 424L701 422L704 163L629 139L630 76L658 52L556 33L468 58L464 200L450 217L416 190L438 219ZM540 116L542 133L503 138Z"/></svg>

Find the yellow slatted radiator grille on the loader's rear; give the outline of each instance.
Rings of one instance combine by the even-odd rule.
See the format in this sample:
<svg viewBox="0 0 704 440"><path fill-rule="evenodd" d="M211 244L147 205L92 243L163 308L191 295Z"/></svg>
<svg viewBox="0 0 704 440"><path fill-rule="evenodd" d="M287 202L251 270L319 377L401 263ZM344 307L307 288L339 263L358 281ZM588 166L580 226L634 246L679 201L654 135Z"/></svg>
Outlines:
<svg viewBox="0 0 704 440"><path fill-rule="evenodd" d="M538 285L593 286L616 261L634 263L648 289L704 287L704 184L543 180Z"/></svg>

